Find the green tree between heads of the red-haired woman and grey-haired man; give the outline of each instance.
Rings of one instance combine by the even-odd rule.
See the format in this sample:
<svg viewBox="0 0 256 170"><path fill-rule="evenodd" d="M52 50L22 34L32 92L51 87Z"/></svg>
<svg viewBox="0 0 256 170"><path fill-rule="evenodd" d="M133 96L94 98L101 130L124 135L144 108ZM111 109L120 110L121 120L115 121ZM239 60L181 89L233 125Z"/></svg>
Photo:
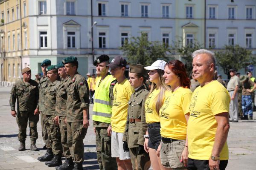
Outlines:
<svg viewBox="0 0 256 170"><path fill-rule="evenodd" d="M203 48L198 41L190 43L189 45L183 45L183 38L178 37L176 42L173 42L174 45L171 47L172 53L179 55L182 62L184 62L187 74L192 73L192 53L198 49Z"/></svg>

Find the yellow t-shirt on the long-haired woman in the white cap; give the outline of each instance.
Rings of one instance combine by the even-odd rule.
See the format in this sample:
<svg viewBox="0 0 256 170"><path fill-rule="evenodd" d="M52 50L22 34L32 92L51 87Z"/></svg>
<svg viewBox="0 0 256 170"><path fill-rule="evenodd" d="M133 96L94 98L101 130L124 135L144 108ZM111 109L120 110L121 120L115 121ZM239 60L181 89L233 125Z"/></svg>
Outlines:
<svg viewBox="0 0 256 170"><path fill-rule="evenodd" d="M151 94L149 94L148 98L145 100L145 116L146 123L155 123L160 122L159 114L156 111L156 102L158 94L160 93L160 89L154 89ZM166 92L165 92L166 94ZM164 101L164 97L163 97Z"/></svg>

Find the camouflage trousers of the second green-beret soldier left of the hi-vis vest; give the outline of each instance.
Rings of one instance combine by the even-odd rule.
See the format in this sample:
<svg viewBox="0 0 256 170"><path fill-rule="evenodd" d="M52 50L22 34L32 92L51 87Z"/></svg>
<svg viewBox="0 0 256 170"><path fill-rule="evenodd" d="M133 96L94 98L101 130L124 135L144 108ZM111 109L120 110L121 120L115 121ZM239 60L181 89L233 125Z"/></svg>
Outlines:
<svg viewBox="0 0 256 170"><path fill-rule="evenodd" d="M70 150L67 144L67 124L65 123L66 116L59 116L59 126L61 130L61 144L63 149L63 154L65 158L71 158Z"/></svg>

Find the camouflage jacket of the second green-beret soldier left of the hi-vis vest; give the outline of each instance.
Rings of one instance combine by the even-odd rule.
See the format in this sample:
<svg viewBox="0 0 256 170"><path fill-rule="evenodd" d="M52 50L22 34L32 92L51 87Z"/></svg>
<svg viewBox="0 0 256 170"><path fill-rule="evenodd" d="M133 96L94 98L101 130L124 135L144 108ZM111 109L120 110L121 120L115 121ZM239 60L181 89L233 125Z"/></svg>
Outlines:
<svg viewBox="0 0 256 170"><path fill-rule="evenodd" d="M61 80L61 84L57 88L55 109L57 116L66 116L67 111L67 81L69 77Z"/></svg>

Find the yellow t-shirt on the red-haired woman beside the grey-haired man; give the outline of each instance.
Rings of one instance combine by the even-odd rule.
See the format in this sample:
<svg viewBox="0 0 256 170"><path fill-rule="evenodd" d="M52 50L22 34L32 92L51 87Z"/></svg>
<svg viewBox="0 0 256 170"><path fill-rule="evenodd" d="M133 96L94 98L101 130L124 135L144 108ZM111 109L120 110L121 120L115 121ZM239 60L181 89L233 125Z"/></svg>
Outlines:
<svg viewBox="0 0 256 170"><path fill-rule="evenodd" d="M162 137L186 140L185 114L189 113L191 96L192 91L183 87L166 92L166 100L159 111Z"/></svg>

